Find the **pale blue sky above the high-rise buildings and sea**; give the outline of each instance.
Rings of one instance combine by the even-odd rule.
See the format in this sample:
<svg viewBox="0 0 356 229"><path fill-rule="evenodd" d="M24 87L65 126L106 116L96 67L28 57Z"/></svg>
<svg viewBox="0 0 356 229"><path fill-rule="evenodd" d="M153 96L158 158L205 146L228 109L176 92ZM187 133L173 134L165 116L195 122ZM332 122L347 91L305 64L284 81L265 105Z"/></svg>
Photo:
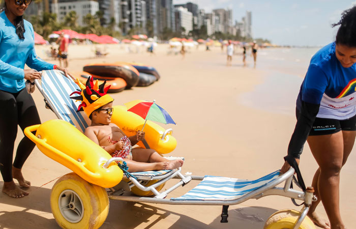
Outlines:
<svg viewBox="0 0 356 229"><path fill-rule="evenodd" d="M205 12L229 8L233 19L241 21L252 12L254 38L265 38L280 45L325 45L335 39L342 11L355 0L173 0L173 4L192 2Z"/></svg>

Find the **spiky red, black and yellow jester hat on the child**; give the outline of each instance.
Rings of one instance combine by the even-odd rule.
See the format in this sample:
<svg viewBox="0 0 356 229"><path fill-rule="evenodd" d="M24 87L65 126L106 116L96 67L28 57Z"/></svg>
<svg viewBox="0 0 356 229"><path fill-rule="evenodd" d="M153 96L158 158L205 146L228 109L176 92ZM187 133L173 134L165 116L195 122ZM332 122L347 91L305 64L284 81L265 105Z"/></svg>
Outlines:
<svg viewBox="0 0 356 229"><path fill-rule="evenodd" d="M110 85L104 88L106 80L101 85L98 85L98 80L96 80L94 83L93 77L90 76L86 80L85 85L82 84L79 79L77 79L76 83L79 85L81 91L78 90L73 92L71 96L73 94L79 94L79 96L70 98L82 101L81 104L78 106L78 111L84 110L87 117L89 117L94 110L114 100L113 98L111 98L111 96L106 94L110 88Z"/></svg>

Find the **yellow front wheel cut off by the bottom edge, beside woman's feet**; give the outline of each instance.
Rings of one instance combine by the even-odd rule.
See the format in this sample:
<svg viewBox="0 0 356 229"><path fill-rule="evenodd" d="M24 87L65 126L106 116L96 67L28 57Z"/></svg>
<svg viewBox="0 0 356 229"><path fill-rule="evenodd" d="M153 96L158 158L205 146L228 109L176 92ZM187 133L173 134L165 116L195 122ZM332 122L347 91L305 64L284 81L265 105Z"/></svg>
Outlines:
<svg viewBox="0 0 356 229"><path fill-rule="evenodd" d="M263 229L293 229L300 212L285 209L272 214L264 224ZM298 229L315 229L314 223L306 216Z"/></svg>

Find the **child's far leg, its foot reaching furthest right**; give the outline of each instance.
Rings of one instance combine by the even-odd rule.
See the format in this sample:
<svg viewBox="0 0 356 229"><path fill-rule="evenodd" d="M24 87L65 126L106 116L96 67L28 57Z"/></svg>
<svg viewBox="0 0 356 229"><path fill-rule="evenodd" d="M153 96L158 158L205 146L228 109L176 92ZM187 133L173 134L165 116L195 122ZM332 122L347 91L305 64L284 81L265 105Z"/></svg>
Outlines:
<svg viewBox="0 0 356 229"><path fill-rule="evenodd" d="M155 163L167 162L166 169L174 169L183 165L183 160L168 160L152 149L132 149L132 159L137 162Z"/></svg>

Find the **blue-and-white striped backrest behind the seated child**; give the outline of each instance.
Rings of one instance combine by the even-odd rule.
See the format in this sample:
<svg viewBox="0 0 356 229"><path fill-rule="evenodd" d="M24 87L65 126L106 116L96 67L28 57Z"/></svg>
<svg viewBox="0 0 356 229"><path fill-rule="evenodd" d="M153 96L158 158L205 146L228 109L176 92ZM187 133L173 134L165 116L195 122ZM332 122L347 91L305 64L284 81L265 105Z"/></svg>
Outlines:
<svg viewBox="0 0 356 229"><path fill-rule="evenodd" d="M70 98L70 94L79 90L78 85L57 70L42 71L42 90L53 104L60 117L79 129L81 132L91 123L84 111L77 112L79 101ZM73 95L77 96L77 95Z"/></svg>

